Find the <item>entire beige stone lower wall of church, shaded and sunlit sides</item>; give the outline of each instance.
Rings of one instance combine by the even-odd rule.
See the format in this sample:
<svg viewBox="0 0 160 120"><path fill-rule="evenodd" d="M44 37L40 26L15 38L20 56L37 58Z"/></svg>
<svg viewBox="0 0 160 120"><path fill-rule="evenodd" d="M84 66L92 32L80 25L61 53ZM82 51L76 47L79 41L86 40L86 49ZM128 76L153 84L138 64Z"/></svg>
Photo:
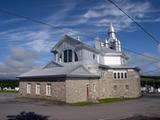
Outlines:
<svg viewBox="0 0 160 120"><path fill-rule="evenodd" d="M22 96L43 97L75 103L102 98L136 98L140 94L140 78L134 69L127 69L126 79L114 79L112 69L102 70L100 79L71 78L63 81L41 82L20 80ZM27 84L31 84L31 94L27 94ZM35 94L36 84L40 84L40 95ZM51 85L51 96L46 96L46 85Z"/></svg>

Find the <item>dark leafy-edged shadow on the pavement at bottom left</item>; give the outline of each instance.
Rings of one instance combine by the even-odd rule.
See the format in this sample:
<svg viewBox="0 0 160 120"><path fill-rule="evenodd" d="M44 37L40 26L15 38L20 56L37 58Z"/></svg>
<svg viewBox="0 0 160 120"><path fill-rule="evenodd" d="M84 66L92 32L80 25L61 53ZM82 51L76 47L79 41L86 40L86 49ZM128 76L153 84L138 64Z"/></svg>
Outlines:
<svg viewBox="0 0 160 120"><path fill-rule="evenodd" d="M48 120L48 116L36 114L34 112L21 112L18 115L8 115L7 120Z"/></svg>

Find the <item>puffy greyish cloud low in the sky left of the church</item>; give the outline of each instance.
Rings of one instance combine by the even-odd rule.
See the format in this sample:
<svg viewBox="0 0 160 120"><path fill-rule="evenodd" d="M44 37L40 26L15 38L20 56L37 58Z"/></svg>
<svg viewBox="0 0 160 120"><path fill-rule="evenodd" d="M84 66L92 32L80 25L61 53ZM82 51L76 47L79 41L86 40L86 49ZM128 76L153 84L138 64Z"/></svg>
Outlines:
<svg viewBox="0 0 160 120"><path fill-rule="evenodd" d="M0 63L0 78L14 79L20 73L38 66L38 55L36 52L24 48L13 48L5 61Z"/></svg>

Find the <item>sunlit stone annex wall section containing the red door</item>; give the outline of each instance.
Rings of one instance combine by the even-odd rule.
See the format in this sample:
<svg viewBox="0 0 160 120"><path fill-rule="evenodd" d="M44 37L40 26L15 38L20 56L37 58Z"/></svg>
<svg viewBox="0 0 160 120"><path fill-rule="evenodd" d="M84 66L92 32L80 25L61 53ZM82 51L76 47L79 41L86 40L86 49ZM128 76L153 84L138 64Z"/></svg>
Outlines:
<svg viewBox="0 0 160 120"><path fill-rule="evenodd" d="M89 86L88 96L87 85ZM74 103L80 101L95 100L99 96L98 89L99 85L97 79L66 80L66 102Z"/></svg>

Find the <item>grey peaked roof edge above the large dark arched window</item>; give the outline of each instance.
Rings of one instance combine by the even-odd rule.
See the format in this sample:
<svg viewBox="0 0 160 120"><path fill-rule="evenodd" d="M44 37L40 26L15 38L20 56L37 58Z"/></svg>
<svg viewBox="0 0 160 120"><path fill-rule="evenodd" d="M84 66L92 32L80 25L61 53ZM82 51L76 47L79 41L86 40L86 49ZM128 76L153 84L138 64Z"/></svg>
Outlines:
<svg viewBox="0 0 160 120"><path fill-rule="evenodd" d="M83 43L82 41L79 41L77 39L74 39L68 35L65 35L52 49L51 52L54 52L57 50L57 48L63 43L63 42L69 42L69 43L73 43L75 45L76 48L84 48L96 53L100 53L100 51L96 48L93 48L85 43Z"/></svg>

